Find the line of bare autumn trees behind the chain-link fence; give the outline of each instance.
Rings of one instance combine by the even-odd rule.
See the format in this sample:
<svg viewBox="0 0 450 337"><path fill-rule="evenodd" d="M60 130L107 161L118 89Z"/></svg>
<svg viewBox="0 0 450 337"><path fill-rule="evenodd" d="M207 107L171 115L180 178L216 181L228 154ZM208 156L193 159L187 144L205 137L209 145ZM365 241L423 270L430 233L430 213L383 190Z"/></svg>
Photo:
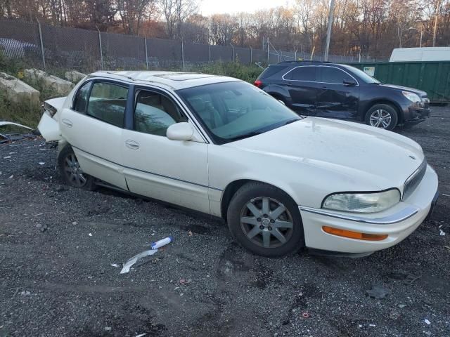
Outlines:
<svg viewBox="0 0 450 337"><path fill-rule="evenodd" d="M255 13L200 14L198 0L0 0L4 18L103 32L321 53L328 0ZM450 0L336 0L330 53L387 58L392 48L450 45ZM301 54L300 54L301 55Z"/></svg>

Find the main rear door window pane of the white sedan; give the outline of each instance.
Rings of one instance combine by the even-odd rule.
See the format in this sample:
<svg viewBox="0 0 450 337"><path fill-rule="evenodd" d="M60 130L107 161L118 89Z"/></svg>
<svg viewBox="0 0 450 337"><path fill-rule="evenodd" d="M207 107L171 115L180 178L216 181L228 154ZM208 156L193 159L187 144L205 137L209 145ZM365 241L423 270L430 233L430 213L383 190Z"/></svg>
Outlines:
<svg viewBox="0 0 450 337"><path fill-rule="evenodd" d="M96 82L92 86L86 114L122 128L127 95L128 88L124 86Z"/></svg>

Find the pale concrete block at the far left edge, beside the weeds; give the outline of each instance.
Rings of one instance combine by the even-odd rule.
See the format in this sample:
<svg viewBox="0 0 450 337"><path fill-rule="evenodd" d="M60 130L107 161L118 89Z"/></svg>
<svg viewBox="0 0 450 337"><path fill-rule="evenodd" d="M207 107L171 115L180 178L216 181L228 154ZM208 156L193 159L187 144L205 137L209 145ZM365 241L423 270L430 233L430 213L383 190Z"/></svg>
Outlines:
<svg viewBox="0 0 450 337"><path fill-rule="evenodd" d="M10 102L39 106L39 91L4 72L0 72L0 91Z"/></svg>

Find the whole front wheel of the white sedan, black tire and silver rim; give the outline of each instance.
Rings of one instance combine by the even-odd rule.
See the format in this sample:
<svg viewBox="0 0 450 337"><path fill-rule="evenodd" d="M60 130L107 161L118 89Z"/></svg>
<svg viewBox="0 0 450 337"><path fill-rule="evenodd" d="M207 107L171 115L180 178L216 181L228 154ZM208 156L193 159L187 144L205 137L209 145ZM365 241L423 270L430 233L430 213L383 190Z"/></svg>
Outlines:
<svg viewBox="0 0 450 337"><path fill-rule="evenodd" d="M255 182L240 187L230 201L227 219L236 241L258 255L283 256L304 246L298 206L274 186Z"/></svg>

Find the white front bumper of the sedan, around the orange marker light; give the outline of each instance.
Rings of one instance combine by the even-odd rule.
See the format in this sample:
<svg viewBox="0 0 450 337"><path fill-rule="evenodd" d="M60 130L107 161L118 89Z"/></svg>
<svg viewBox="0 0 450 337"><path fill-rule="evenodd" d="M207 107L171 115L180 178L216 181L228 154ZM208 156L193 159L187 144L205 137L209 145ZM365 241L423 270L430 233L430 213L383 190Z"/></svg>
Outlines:
<svg viewBox="0 0 450 337"><path fill-rule="evenodd" d="M305 244L311 249L342 253L367 253L394 246L428 217L437 199L437 186L437 175L428 166L422 181L409 197L376 216L300 206ZM388 236L381 241L349 239L328 234L323 231L323 226Z"/></svg>

